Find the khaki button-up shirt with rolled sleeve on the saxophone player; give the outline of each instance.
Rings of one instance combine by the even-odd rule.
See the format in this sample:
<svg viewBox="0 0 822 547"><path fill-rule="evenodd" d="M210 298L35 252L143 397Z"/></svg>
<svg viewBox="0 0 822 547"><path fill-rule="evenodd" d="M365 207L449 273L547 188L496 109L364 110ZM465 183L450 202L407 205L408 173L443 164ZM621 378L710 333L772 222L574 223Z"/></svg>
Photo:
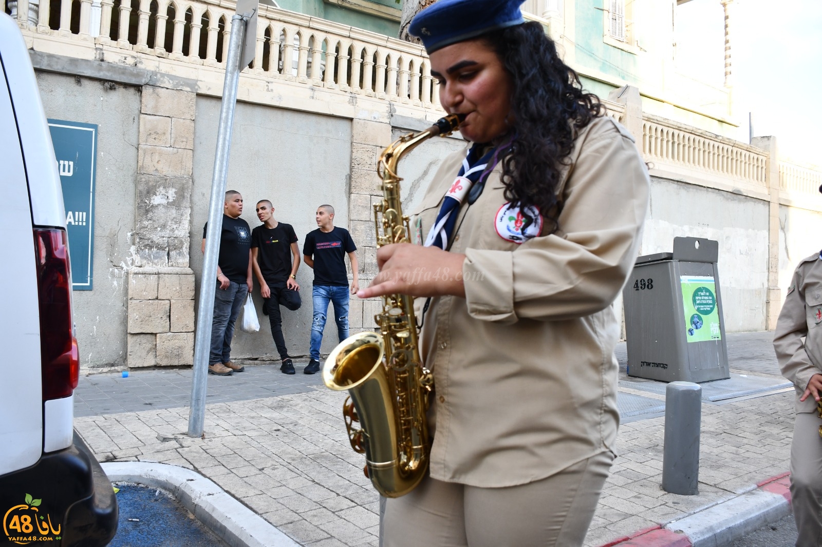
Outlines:
<svg viewBox="0 0 822 547"><path fill-rule="evenodd" d="M633 141L609 117L580 131L559 190L561 232L522 245L497 235L501 164L460 210L450 250L467 255L466 297L432 299L420 337L436 382L433 478L522 485L612 449L619 327L611 304L633 267L649 200ZM443 161L423 196L423 238L464 155Z"/></svg>

